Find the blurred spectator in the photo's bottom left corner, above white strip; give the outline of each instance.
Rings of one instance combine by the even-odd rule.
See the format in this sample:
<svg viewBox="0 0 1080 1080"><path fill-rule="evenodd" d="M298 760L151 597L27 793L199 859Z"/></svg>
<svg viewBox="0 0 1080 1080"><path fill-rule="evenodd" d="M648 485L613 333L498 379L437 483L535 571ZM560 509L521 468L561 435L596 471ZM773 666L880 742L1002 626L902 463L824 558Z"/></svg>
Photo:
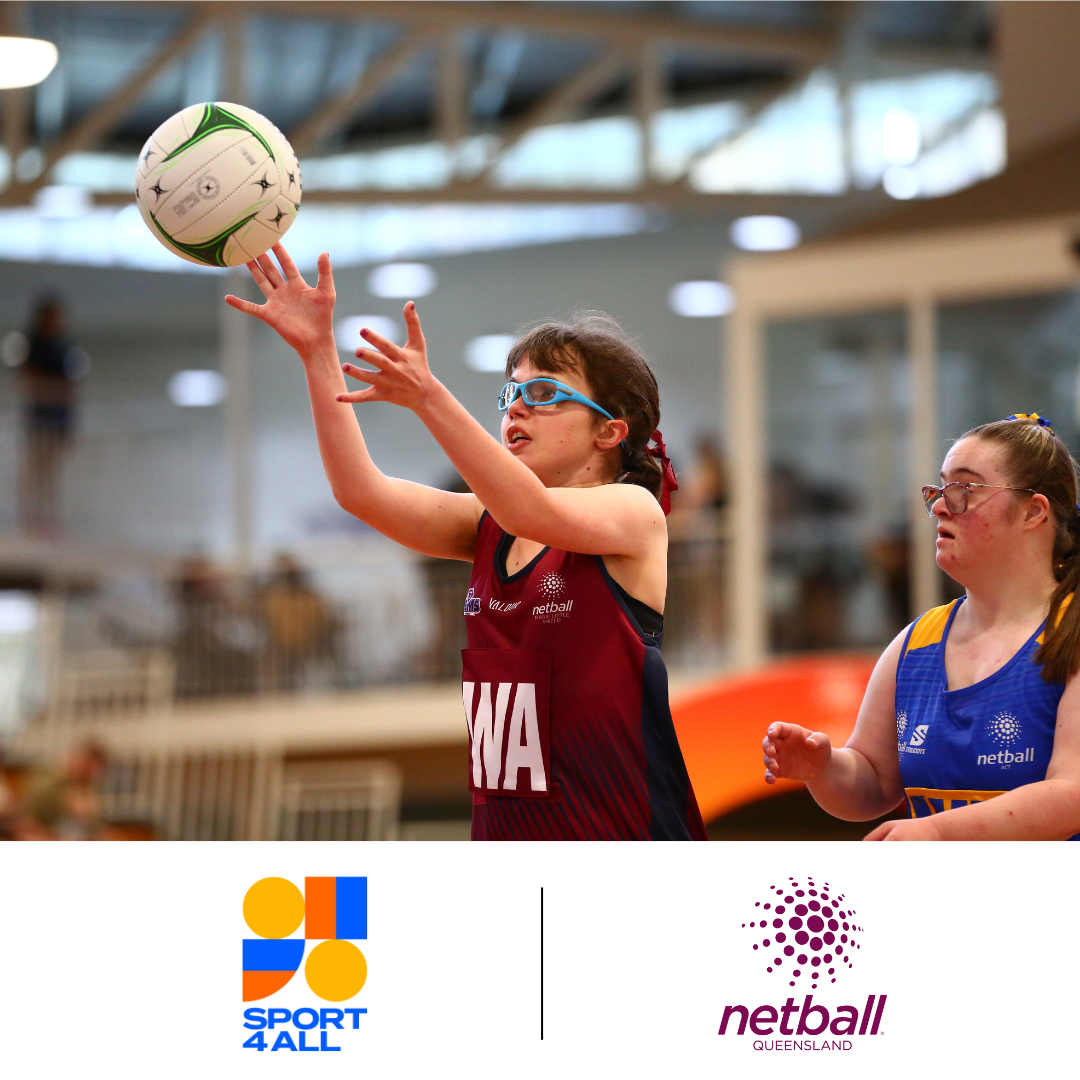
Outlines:
<svg viewBox="0 0 1080 1080"><path fill-rule="evenodd" d="M97 840L102 838L100 784L108 767L105 751L87 742L59 770L41 769L26 789L18 839Z"/></svg>

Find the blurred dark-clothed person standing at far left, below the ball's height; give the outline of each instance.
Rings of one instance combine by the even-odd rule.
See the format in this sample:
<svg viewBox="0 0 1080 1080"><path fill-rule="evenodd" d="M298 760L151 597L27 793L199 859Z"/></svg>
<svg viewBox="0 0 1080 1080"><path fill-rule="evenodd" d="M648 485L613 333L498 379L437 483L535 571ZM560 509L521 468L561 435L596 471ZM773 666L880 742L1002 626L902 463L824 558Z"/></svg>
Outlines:
<svg viewBox="0 0 1080 1080"><path fill-rule="evenodd" d="M75 419L75 384L90 369L90 357L65 335L64 308L42 299L18 363L25 404L25 444L19 476L23 528L37 536L59 531L60 468Z"/></svg>

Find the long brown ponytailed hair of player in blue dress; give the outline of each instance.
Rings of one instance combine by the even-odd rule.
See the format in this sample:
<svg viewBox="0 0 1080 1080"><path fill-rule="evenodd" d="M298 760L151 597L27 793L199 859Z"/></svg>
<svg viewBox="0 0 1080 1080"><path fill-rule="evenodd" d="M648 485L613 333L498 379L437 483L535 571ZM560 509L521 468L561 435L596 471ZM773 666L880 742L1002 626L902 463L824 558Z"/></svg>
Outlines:
<svg viewBox="0 0 1080 1080"><path fill-rule="evenodd" d="M1080 669L1080 603L1062 603L1080 586L1080 515L1077 511L1077 463L1050 428L1035 419L998 420L964 432L1000 446L1002 470L1010 484L1045 496L1054 525L1054 578L1047 631L1035 654L1048 683L1065 683ZM1015 496L1014 496L1015 497Z"/></svg>

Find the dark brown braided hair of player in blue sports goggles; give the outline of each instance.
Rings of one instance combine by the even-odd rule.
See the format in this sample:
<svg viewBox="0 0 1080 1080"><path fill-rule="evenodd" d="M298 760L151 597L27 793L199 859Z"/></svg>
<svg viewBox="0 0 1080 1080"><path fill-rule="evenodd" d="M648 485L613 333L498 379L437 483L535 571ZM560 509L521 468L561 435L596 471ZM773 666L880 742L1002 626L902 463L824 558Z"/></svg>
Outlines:
<svg viewBox="0 0 1080 1080"><path fill-rule="evenodd" d="M508 379L526 354L541 372L583 376L593 401L626 421L630 431L616 483L637 484L659 499L663 474L657 459L645 449L660 422L660 389L622 327L603 311L582 311L567 323L541 323L514 342L507 356Z"/></svg>

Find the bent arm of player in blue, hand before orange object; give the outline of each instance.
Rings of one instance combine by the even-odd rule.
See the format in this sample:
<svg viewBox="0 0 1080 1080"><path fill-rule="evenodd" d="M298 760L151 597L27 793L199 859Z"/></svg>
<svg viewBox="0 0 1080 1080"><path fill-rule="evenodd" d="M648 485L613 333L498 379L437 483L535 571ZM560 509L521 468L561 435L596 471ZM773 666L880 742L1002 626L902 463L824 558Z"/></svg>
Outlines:
<svg viewBox="0 0 1080 1080"><path fill-rule="evenodd" d="M801 780L823 810L845 821L872 821L901 804L896 663L906 634L897 635L878 659L846 746L834 748L824 731L796 724L769 727L762 742L767 783L781 777Z"/></svg>

